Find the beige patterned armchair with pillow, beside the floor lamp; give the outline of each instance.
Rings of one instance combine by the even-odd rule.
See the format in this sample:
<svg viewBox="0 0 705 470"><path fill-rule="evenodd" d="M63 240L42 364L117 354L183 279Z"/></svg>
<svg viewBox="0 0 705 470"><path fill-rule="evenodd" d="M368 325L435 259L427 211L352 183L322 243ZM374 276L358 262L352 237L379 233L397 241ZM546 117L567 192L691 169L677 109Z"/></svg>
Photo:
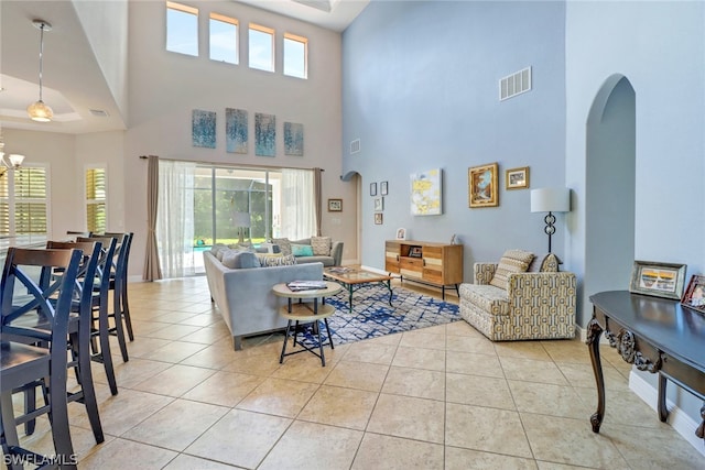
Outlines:
<svg viewBox="0 0 705 470"><path fill-rule="evenodd" d="M575 274L511 273L505 291L489 285L496 267L476 263L475 284L460 284L460 316L468 324L492 341L575 337Z"/></svg>

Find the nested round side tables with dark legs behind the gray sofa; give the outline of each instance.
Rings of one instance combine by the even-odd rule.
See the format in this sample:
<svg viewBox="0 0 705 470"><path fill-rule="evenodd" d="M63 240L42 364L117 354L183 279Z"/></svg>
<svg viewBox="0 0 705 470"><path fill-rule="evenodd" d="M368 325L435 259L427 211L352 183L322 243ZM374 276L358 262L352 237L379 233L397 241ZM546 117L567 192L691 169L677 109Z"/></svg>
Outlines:
<svg viewBox="0 0 705 470"><path fill-rule="evenodd" d="M335 313L335 307L326 304L325 298L339 293L343 291L343 287L340 284L329 281L326 281L325 284L326 288L316 288L311 291L292 291L285 283L276 284L272 287L274 295L286 298L286 306L279 309L279 315L288 320L284 345L282 346L282 353L279 357L280 364L284 362L284 358L286 356L308 351L321 358L322 367L326 365L326 359L323 352L323 347L325 345L321 341L321 328L318 326L318 321L323 320L325 324L326 332L328 334L328 342L326 345L329 345L330 349L335 349L333 346L333 338L330 337L330 329L328 328L328 317ZM301 341L299 341L299 346L303 349L289 353L286 352L286 343L289 342L289 338L292 334L294 338L294 347L296 347L296 334L299 332L300 324L313 324L313 330L318 337L318 352L316 352L315 347L308 347Z"/></svg>

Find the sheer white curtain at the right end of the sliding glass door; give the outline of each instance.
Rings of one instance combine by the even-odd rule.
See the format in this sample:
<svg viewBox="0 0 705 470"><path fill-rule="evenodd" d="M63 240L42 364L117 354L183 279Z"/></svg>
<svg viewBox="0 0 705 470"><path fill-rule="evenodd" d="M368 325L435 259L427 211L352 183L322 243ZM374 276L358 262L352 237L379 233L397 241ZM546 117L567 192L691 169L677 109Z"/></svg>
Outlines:
<svg viewBox="0 0 705 470"><path fill-rule="evenodd" d="M299 240L316 234L314 196L312 170L282 170L282 237Z"/></svg>

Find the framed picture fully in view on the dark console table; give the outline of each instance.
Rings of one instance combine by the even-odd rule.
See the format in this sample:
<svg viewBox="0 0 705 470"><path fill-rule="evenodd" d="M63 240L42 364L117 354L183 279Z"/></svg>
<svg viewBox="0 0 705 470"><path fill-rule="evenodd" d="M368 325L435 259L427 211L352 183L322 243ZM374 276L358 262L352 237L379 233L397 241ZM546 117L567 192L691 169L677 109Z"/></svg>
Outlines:
<svg viewBox="0 0 705 470"><path fill-rule="evenodd" d="M631 269L629 292L680 300L685 283L685 264L636 260Z"/></svg>

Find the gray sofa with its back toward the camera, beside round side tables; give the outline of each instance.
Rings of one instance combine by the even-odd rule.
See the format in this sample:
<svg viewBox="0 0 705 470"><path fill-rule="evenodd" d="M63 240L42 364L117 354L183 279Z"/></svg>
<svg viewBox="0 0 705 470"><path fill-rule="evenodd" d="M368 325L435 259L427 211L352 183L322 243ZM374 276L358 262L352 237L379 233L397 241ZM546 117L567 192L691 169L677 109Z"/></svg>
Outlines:
<svg viewBox="0 0 705 470"><path fill-rule="evenodd" d="M284 300L272 294L274 284L323 280L322 263L231 269L214 252L204 251L203 256L210 298L230 329L236 350L242 349L243 337L286 327L279 316Z"/></svg>

